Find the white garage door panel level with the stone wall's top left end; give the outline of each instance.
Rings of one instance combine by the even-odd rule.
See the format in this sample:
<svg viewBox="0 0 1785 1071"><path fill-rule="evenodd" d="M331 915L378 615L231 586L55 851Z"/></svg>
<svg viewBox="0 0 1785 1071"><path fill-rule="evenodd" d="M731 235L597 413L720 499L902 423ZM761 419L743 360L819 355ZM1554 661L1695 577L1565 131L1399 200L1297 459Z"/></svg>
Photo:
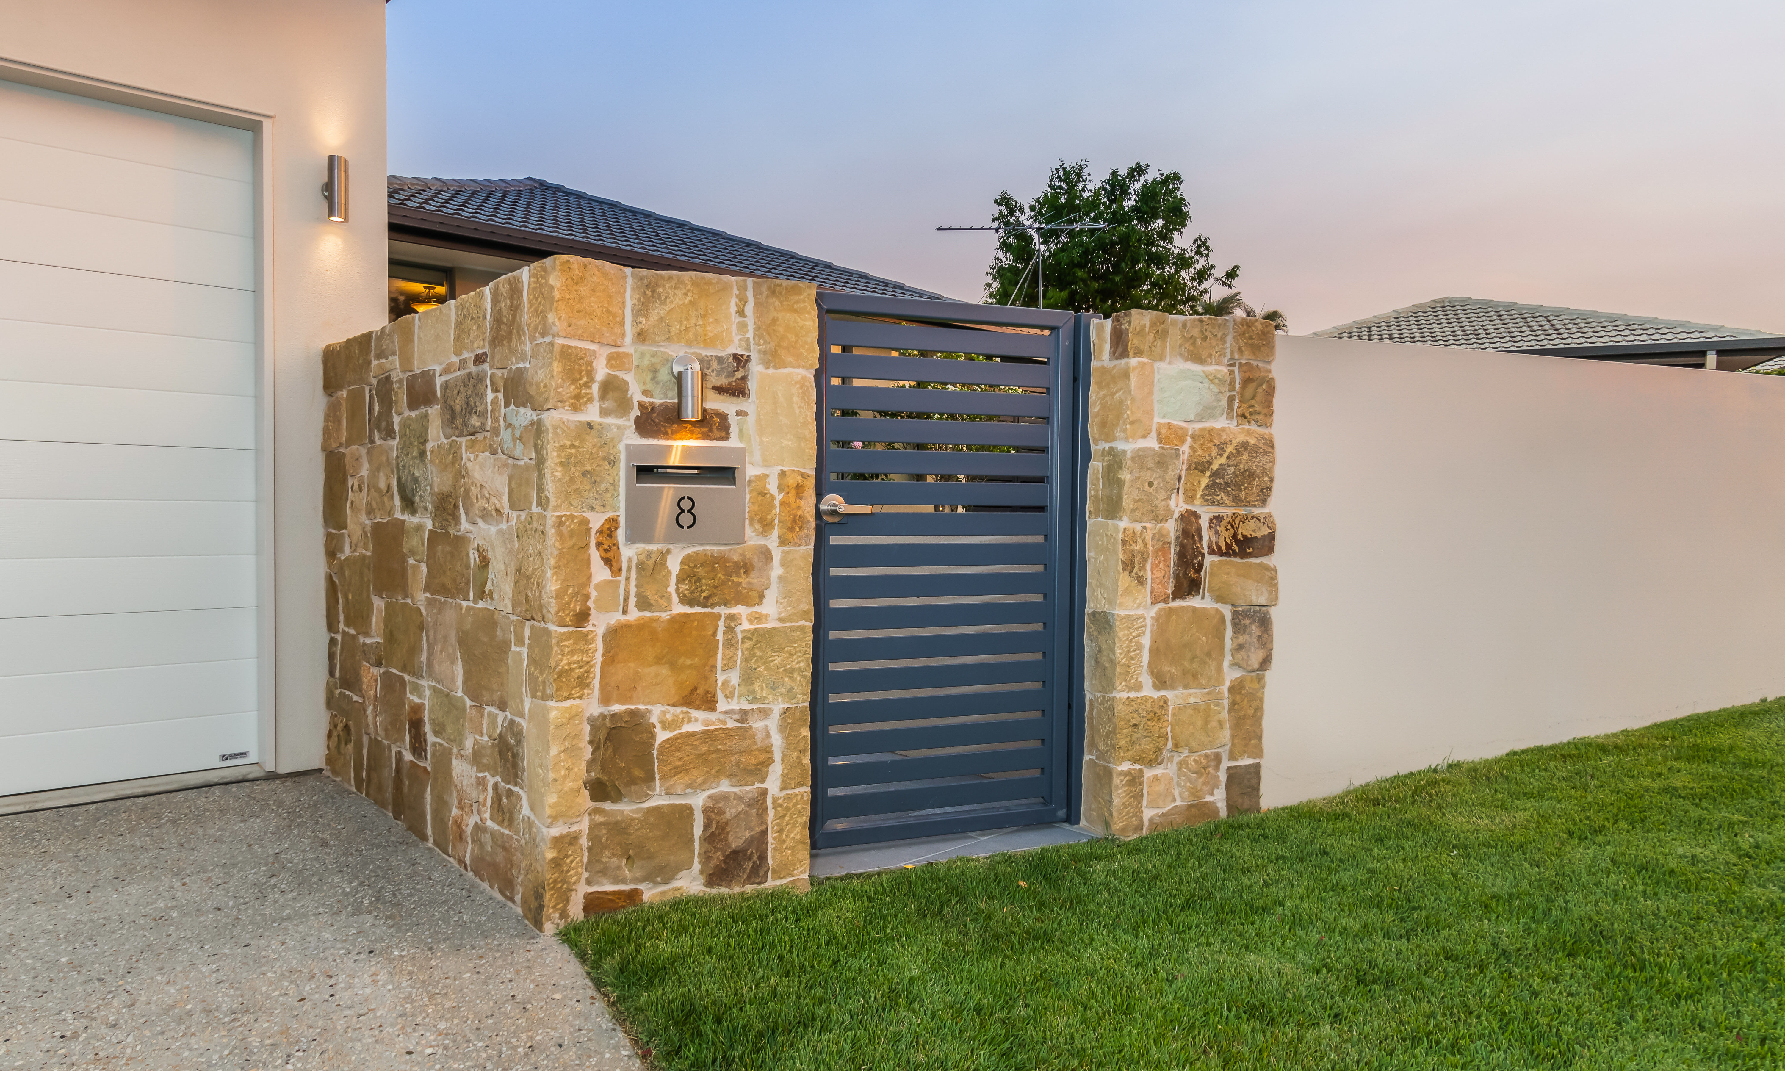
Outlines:
<svg viewBox="0 0 1785 1071"><path fill-rule="evenodd" d="M253 343L253 295L0 259L0 320Z"/></svg>

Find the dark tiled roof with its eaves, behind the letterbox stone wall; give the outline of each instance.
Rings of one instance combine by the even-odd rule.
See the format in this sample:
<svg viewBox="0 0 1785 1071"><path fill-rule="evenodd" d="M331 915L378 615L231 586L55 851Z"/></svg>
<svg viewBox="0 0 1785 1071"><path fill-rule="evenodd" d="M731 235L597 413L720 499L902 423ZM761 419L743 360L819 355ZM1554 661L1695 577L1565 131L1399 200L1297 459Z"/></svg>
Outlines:
<svg viewBox="0 0 1785 1071"><path fill-rule="evenodd" d="M948 300L892 278L659 216L544 178L391 175L389 211L393 237L425 232L539 255L578 253L632 268L718 270L798 278L857 295Z"/></svg>

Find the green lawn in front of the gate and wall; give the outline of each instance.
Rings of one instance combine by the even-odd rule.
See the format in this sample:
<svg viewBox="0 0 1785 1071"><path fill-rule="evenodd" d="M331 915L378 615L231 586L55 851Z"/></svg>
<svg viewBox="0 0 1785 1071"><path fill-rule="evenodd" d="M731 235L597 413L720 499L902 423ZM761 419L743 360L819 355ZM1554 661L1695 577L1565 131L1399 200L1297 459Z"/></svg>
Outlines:
<svg viewBox="0 0 1785 1071"><path fill-rule="evenodd" d="M564 941L698 1067L1785 1066L1785 702Z"/></svg>

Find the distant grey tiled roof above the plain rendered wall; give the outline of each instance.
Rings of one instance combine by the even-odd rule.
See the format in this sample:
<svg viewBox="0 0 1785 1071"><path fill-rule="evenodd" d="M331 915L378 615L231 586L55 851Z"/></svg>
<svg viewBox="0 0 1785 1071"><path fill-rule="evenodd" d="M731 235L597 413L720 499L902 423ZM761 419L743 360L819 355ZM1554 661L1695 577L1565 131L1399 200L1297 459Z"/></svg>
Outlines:
<svg viewBox="0 0 1785 1071"><path fill-rule="evenodd" d="M1628 346L1640 343L1696 343L1715 339L1764 339L1773 332L1687 320L1656 320L1519 305L1485 298L1435 298L1367 320L1314 332L1330 339L1367 343L1419 343L1469 350L1535 350L1539 346Z"/></svg>

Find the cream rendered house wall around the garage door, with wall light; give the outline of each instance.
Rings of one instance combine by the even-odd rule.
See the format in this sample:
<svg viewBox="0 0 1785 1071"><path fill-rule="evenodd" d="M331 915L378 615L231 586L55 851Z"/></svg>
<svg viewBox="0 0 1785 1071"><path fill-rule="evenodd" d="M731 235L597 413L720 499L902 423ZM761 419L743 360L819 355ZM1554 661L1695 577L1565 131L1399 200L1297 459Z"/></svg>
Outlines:
<svg viewBox="0 0 1785 1071"><path fill-rule="evenodd" d="M386 320L384 4L0 0L0 61L271 116L273 746L278 769L321 766L321 346ZM323 218L328 154L352 162L348 223Z"/></svg>

